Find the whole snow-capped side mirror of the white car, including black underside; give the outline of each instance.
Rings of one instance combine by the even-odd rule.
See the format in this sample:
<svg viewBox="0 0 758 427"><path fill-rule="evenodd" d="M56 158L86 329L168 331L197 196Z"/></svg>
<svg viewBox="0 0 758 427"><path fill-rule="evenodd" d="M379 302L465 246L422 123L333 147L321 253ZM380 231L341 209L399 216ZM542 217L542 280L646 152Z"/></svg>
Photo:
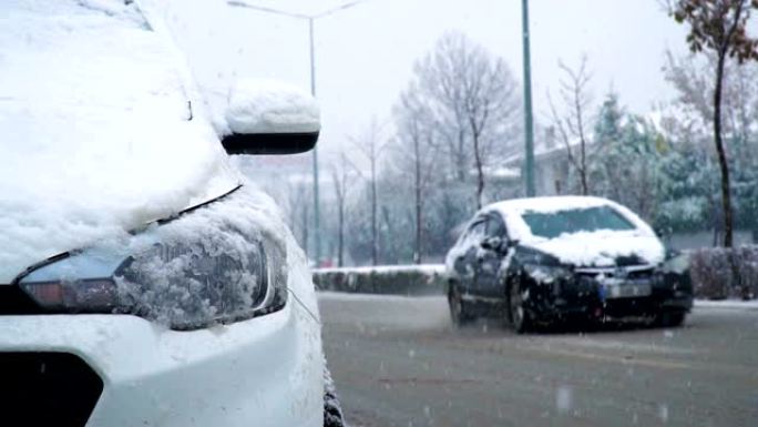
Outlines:
<svg viewBox="0 0 758 427"><path fill-rule="evenodd" d="M300 89L279 82L240 80L229 95L228 154L296 154L316 146L321 129L318 103Z"/></svg>

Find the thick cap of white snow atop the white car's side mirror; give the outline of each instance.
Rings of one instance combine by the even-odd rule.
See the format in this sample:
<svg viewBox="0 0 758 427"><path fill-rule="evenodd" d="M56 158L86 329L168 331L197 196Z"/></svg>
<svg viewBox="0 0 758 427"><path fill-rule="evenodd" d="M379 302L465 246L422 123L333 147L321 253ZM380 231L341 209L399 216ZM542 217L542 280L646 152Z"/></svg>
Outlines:
<svg viewBox="0 0 758 427"><path fill-rule="evenodd" d="M318 103L294 85L238 81L232 89L226 122L232 133L316 133L320 130Z"/></svg>

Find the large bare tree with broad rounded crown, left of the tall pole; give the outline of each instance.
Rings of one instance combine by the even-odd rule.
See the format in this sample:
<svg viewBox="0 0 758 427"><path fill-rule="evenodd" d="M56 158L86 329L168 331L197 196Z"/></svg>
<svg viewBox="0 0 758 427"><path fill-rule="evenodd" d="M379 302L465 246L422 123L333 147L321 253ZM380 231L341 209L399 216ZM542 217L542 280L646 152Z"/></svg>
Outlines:
<svg viewBox="0 0 758 427"><path fill-rule="evenodd" d="M511 140L499 136L518 119L518 87L508 65L465 35L450 32L416 64L411 88L445 143L458 181L467 181L473 163L481 206L488 157L511 149Z"/></svg>

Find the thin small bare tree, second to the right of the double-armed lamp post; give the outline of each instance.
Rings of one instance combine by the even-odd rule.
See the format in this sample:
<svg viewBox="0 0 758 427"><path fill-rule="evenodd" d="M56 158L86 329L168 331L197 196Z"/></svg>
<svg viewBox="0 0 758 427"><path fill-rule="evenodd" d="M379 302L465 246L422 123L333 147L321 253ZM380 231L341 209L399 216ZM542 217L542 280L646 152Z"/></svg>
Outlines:
<svg viewBox="0 0 758 427"><path fill-rule="evenodd" d="M371 264L379 263L379 230L378 230L378 197L377 197L377 166L379 165L380 156L385 148L382 139L383 126L379 124L377 119L372 119L368 130L360 138L350 138L352 144L366 157L369 163L368 176L361 172L365 179L369 182L371 193Z"/></svg>

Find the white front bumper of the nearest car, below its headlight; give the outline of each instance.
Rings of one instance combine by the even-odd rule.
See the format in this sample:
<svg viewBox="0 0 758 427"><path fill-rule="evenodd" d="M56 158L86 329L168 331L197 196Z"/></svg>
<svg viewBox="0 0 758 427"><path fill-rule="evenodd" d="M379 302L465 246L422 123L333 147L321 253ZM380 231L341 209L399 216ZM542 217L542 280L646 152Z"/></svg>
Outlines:
<svg viewBox="0 0 758 427"><path fill-rule="evenodd" d="M83 383L59 390L73 394L60 401L96 400L89 427L322 424L319 326L297 304L194 332L168 331L127 315L0 316L0 359L29 366L28 357L41 354L74 355L81 372L91 369L102 382L99 396L88 394ZM2 395L13 394L8 383L2 385ZM20 413L8 407L10 401L0 399L7 420L16 419L8 414ZM40 404L32 400L28 407ZM19 423L30 425L29 418Z"/></svg>

